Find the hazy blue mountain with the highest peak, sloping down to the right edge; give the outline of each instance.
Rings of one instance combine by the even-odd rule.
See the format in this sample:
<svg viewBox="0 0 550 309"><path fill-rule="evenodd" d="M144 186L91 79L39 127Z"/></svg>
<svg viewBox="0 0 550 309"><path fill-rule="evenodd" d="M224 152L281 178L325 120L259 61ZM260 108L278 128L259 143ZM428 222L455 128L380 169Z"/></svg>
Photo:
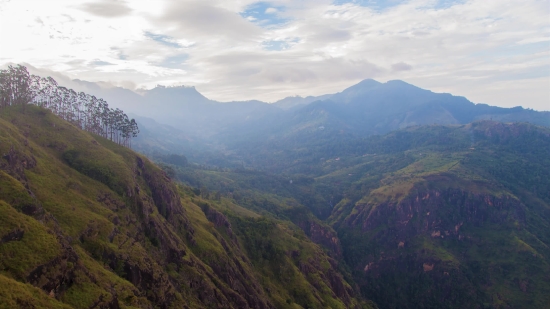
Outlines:
<svg viewBox="0 0 550 309"><path fill-rule="evenodd" d="M236 125L219 133L219 139L229 144L234 141L233 148L240 148L243 142L303 143L329 134L366 137L416 125L466 124L482 119L550 126L550 112L474 104L464 97L434 93L403 81L369 79L328 100L296 106L277 118L269 115Z"/></svg>

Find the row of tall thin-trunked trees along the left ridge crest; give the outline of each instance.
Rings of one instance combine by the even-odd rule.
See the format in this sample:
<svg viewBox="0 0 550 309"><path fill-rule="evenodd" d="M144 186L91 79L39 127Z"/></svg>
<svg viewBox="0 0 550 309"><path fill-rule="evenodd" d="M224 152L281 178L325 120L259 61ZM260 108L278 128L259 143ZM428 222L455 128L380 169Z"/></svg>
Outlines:
<svg viewBox="0 0 550 309"><path fill-rule="evenodd" d="M0 70L0 109L11 105L34 104L88 132L130 147L139 128L120 109L84 92L59 86L52 77L32 75L22 65Z"/></svg>

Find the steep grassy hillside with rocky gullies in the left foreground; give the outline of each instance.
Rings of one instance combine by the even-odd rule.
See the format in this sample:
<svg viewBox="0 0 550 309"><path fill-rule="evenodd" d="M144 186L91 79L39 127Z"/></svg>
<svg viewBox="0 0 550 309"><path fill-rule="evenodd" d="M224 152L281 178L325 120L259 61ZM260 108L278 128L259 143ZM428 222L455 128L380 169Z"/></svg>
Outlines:
<svg viewBox="0 0 550 309"><path fill-rule="evenodd" d="M295 224L48 110L0 110L0 153L2 307L369 308Z"/></svg>

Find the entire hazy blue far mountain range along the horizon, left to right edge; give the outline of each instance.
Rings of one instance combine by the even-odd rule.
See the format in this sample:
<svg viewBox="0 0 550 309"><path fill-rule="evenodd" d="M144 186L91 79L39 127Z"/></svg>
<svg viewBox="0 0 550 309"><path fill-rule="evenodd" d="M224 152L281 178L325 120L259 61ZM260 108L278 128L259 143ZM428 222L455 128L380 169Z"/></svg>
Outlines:
<svg viewBox="0 0 550 309"><path fill-rule="evenodd" d="M550 112L474 104L464 97L434 93L399 80L380 83L367 79L336 94L288 97L273 104L217 102L185 86L158 86L139 95L123 88L83 81L78 84L111 106L169 125L188 140L198 141L189 149L235 149L242 143L275 140L303 143L335 134L365 137L415 125L465 124L482 119L550 126ZM145 126L142 128L147 130ZM148 131L153 137L155 130ZM155 136L155 144L160 149L175 149L169 136Z"/></svg>

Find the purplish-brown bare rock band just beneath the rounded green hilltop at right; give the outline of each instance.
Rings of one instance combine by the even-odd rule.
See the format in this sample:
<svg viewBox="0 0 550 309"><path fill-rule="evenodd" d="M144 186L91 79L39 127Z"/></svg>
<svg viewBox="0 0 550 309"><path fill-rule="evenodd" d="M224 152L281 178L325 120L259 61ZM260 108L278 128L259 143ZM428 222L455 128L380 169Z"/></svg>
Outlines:
<svg viewBox="0 0 550 309"><path fill-rule="evenodd" d="M406 243L407 239L418 234L459 238L465 223L474 226L505 222L516 222L519 226L525 224L525 205L516 198L457 188L411 190L411 194L398 203L390 201L358 205L357 208L361 211L350 216L348 224L360 225L365 232L382 224L388 225L394 233L396 245Z"/></svg>

